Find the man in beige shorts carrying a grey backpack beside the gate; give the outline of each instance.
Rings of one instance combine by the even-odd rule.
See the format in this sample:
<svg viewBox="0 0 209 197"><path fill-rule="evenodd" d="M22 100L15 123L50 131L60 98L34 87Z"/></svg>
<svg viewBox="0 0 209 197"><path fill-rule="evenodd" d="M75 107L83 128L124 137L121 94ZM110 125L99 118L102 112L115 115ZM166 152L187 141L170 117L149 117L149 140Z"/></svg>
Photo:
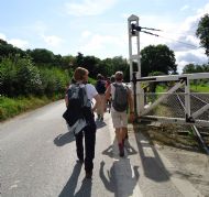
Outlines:
<svg viewBox="0 0 209 197"><path fill-rule="evenodd" d="M131 89L123 83L123 73L114 74L116 83L112 83L106 90L106 99L112 97L111 117L116 136L119 145L119 155L124 156L124 140L128 132L128 107L130 120L134 119L133 99Z"/></svg>

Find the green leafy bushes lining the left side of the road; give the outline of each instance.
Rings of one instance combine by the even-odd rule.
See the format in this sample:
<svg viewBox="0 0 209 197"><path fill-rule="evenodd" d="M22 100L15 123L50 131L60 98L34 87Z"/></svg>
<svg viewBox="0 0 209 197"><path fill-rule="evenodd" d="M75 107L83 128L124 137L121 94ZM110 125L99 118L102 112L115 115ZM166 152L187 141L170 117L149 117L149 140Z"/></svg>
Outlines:
<svg viewBox="0 0 209 197"><path fill-rule="evenodd" d="M33 65L31 57L14 56L0 63L0 95L9 97L63 94L68 85L68 73L61 68Z"/></svg>

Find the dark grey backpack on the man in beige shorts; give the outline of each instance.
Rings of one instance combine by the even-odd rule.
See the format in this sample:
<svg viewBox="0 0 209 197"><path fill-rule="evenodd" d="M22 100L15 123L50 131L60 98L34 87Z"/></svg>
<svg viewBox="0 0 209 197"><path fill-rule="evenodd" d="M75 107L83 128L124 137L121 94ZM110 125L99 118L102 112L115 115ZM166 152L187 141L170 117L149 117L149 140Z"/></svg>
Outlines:
<svg viewBox="0 0 209 197"><path fill-rule="evenodd" d="M112 100L112 107L116 111L122 112L128 109L128 87L123 84L113 84L116 87L114 99Z"/></svg>

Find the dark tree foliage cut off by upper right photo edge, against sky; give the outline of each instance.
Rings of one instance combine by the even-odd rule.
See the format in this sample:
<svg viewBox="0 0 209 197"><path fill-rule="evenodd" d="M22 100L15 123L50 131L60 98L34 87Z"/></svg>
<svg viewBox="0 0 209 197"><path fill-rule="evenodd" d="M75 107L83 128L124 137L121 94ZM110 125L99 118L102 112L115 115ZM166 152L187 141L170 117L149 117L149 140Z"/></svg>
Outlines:
<svg viewBox="0 0 209 197"><path fill-rule="evenodd" d="M196 31L196 35L200 39L200 45L206 48L206 55L209 56L209 14L205 14Z"/></svg>

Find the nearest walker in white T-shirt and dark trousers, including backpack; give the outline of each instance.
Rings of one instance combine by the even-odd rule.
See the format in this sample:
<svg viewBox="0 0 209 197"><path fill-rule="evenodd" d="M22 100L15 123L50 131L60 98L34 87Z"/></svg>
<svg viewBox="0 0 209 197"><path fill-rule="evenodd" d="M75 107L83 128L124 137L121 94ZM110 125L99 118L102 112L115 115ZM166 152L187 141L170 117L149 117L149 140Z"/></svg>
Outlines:
<svg viewBox="0 0 209 197"><path fill-rule="evenodd" d="M74 73L74 84L67 90L65 101L70 128L74 128L78 162L85 163L86 178L91 178L96 145L96 122L94 111L100 105L100 97L96 88L88 81L88 70L77 67ZM96 100L91 108L92 98ZM80 130L80 131L79 131ZM85 138L85 155L82 139Z"/></svg>

